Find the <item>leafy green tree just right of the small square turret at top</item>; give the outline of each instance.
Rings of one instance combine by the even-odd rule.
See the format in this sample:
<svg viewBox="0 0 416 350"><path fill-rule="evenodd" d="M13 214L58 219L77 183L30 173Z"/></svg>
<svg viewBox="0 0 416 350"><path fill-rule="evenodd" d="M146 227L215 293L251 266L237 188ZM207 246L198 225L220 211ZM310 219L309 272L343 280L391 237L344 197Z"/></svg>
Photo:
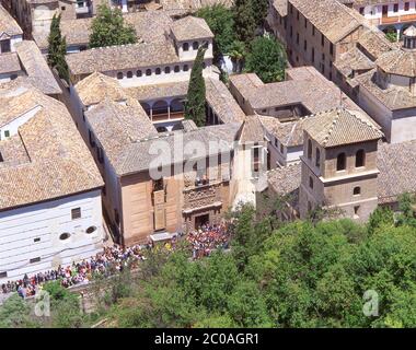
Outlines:
<svg viewBox="0 0 416 350"><path fill-rule="evenodd" d="M204 19L212 31L213 59L218 62L220 57L229 51L231 44L236 39L234 32L234 16L230 9L221 3L205 7L196 13Z"/></svg>

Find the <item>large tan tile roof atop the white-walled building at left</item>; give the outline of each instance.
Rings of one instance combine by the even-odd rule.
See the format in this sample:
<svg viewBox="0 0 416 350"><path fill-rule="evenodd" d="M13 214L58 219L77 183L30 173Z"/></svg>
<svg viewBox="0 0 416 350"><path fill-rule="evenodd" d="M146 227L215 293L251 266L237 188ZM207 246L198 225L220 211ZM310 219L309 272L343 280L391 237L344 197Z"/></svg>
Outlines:
<svg viewBox="0 0 416 350"><path fill-rule="evenodd" d="M15 117L36 105L19 133L0 141L0 210L100 188L103 180L67 108L18 79L0 85L0 110L21 105ZM16 107L15 107L16 108ZM12 113L8 113L8 118ZM10 150L18 153L11 154ZM14 159L15 158L15 159Z"/></svg>

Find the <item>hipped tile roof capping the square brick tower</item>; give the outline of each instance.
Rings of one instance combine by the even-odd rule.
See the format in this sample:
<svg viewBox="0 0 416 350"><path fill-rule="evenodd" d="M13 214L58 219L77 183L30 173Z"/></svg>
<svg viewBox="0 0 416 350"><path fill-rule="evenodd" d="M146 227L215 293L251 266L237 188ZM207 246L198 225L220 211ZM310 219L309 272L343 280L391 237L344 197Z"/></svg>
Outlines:
<svg viewBox="0 0 416 350"><path fill-rule="evenodd" d="M378 140L383 135L358 112L336 108L304 121L304 130L324 148Z"/></svg>

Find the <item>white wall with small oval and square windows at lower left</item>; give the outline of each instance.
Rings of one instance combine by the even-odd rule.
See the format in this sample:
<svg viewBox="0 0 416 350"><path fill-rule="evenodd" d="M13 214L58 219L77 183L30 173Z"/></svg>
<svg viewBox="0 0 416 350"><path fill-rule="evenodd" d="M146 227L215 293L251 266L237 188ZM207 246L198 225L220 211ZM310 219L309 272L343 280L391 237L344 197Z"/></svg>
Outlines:
<svg viewBox="0 0 416 350"><path fill-rule="evenodd" d="M101 189L1 211L0 283L91 257L103 237Z"/></svg>

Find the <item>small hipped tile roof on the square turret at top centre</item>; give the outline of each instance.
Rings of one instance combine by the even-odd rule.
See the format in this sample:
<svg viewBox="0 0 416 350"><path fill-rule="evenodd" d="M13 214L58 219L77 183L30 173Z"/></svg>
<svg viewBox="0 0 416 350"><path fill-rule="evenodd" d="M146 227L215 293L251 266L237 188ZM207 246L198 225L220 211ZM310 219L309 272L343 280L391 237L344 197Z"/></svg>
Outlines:
<svg viewBox="0 0 416 350"><path fill-rule="evenodd" d="M171 24L172 34L178 42L213 38L213 34L204 19L188 15Z"/></svg>

